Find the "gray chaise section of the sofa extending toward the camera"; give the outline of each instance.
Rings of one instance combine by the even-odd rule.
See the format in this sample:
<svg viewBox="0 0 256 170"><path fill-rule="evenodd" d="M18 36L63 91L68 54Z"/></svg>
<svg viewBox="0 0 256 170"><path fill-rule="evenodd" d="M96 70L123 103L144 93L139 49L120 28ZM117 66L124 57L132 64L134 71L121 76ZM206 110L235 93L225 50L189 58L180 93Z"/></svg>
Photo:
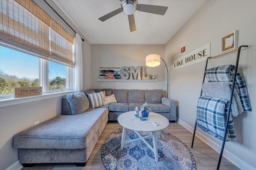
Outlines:
<svg viewBox="0 0 256 170"><path fill-rule="evenodd" d="M87 109L56 117L14 136L20 163L76 163L85 166L106 123L108 109Z"/></svg>

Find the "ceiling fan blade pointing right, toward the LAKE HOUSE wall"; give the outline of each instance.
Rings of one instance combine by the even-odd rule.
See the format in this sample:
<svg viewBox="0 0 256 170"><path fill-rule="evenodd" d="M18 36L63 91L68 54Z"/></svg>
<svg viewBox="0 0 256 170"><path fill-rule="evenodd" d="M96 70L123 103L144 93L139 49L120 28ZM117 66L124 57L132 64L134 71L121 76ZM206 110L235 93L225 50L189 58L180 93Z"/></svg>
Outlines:
<svg viewBox="0 0 256 170"><path fill-rule="evenodd" d="M146 5L146 4L138 4L138 11L148 12L152 14L164 15L167 11L167 6L156 6L156 5Z"/></svg>

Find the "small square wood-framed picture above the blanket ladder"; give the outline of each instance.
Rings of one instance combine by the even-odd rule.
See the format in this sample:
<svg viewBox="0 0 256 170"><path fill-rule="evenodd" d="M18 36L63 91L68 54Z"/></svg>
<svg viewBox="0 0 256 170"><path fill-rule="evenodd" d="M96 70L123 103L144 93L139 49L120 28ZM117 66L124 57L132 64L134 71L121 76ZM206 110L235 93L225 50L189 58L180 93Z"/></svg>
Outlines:
<svg viewBox="0 0 256 170"><path fill-rule="evenodd" d="M221 37L221 53L238 48L238 30Z"/></svg>

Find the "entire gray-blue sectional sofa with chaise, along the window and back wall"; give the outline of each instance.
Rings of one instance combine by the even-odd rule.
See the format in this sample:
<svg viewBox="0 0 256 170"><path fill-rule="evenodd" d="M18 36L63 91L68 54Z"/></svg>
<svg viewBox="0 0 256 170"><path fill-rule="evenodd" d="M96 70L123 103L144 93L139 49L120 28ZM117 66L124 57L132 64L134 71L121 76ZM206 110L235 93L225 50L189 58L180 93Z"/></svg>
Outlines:
<svg viewBox="0 0 256 170"><path fill-rule="evenodd" d="M89 108L86 95L104 91L116 103ZM176 101L163 97L162 90L94 89L68 94L62 99L62 115L30 127L14 136L20 163L76 163L85 166L108 120L147 102L151 111L176 120Z"/></svg>

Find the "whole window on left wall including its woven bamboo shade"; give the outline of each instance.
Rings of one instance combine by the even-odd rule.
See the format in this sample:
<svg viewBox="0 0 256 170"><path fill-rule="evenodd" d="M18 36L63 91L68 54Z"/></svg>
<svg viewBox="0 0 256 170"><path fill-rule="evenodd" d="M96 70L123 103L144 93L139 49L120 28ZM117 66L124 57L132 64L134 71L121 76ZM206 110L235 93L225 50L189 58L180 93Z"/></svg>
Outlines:
<svg viewBox="0 0 256 170"><path fill-rule="evenodd" d="M0 6L0 97L12 97L14 87L71 90L74 37L32 0Z"/></svg>

